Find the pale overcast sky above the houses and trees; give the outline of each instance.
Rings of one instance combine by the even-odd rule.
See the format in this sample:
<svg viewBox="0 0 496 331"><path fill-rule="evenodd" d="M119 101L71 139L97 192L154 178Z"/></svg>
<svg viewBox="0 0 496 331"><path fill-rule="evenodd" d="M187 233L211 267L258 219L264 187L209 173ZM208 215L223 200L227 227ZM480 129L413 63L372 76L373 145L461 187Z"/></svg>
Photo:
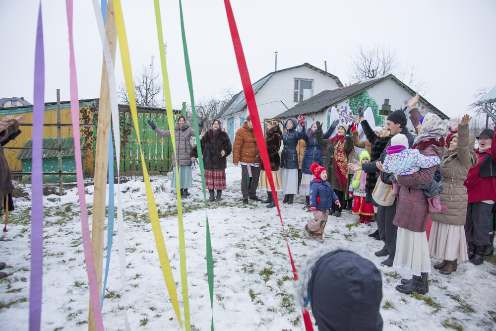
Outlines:
<svg viewBox="0 0 496 331"><path fill-rule="evenodd" d="M33 102L37 0L0 0L0 97ZM461 116L481 87L496 84L496 1L232 0L252 83L277 68L305 62L350 83L348 67L359 45L396 50L430 85L425 95L448 116ZM181 107L186 81L179 1L160 1L172 103ZM155 57L160 66L152 0L122 0L133 74ZM43 0L45 101L69 99L69 57L64 0ZM186 38L195 100L242 89L222 0L184 0ZM102 48L91 0L74 1L74 43L79 98L98 98ZM123 80L119 48L116 75ZM393 72L394 73L394 72Z"/></svg>

